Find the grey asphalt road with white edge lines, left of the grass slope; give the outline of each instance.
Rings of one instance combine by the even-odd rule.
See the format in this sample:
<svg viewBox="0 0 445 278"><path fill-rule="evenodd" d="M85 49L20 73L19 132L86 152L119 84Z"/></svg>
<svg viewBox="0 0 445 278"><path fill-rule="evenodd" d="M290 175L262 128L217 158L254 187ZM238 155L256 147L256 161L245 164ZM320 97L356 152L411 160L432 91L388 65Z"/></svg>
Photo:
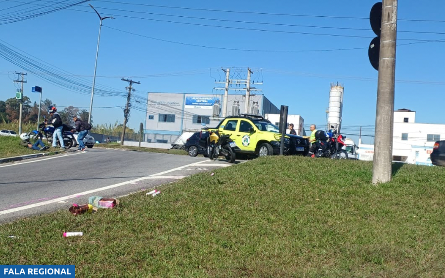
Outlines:
<svg viewBox="0 0 445 278"><path fill-rule="evenodd" d="M117 198L229 166L202 157L88 149L0 165L0 223L68 209L90 196Z"/></svg>

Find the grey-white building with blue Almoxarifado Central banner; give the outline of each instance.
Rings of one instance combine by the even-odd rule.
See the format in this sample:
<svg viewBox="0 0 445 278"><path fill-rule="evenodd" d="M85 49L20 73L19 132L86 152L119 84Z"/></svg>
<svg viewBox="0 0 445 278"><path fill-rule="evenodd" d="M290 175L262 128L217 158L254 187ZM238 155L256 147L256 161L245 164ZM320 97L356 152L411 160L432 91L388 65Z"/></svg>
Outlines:
<svg viewBox="0 0 445 278"><path fill-rule="evenodd" d="M245 113L245 95L228 94L227 116ZM145 142L170 144L184 131L214 127L222 118L223 94L148 93ZM249 114L279 114L264 94L249 96ZM160 146L157 146L160 147Z"/></svg>

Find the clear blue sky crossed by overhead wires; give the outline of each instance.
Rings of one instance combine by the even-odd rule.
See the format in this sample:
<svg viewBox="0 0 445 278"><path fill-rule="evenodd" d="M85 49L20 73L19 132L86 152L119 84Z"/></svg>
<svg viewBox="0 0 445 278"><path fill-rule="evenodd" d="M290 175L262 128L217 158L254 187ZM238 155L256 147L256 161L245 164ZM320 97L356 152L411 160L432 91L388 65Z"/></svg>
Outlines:
<svg viewBox="0 0 445 278"><path fill-rule="evenodd" d="M2 10L0 20L12 10L18 12L21 8L51 4L48 1L0 0ZM20 2L28 4L4 10L21 4ZM75 1L71 0L71 2ZM373 135L378 73L368 61L367 48L369 42L375 37L370 30L368 20L369 11L375 0L281 1L281 4L265 0L255 2L92 0L72 9L2 24L0 25L0 43L8 43L8 46L16 51L28 53L27 57L34 56L33 59L45 61L59 74L62 70L69 72L71 75L64 73L66 78L82 76L83 81L91 86L99 19L97 15L91 13L88 3L96 7L102 16L112 15L116 18L106 19L102 27L96 87L101 84L124 94L125 86L128 84L121 81L121 78L141 82L140 85L134 85L136 99L133 99L132 103L135 109L131 111L129 121L129 126L132 128L137 129L139 122L144 121L145 113L137 109L144 110L146 104L137 103L136 100L142 101L148 91L212 93L214 87L220 86L220 84L215 84L215 79L217 81L224 79L221 67L239 68L240 70L232 69L231 72L239 74L242 78L246 76L247 67L250 67L255 72L253 79L263 80L264 85L258 87L263 89L267 98L277 107L288 105L289 113L300 114L307 125L325 123L329 85L331 82L343 83L345 86L343 132L356 134L358 126L363 125L363 133ZM216 12L196 10L196 8L293 14L294 16ZM422 1L421 4L414 0L399 1L398 44L415 43L400 45L397 48L396 80L398 82L396 83L395 108L416 111L417 122L445 123L445 110L442 109L445 88L443 70L445 42L422 41L445 39L445 21L441 22L444 10L445 1L443 0ZM355 19L344 17L355 17ZM411 21L414 19L429 21ZM233 29L233 27L244 29ZM413 31L442 34L412 33ZM185 44L244 50L298 50L301 52L234 51ZM307 51L345 48L362 49ZM17 79L17 75L14 75L15 71L28 73L28 83L25 83L24 91L32 101L39 99L37 94L31 93L31 87L40 85L44 87L43 98L51 99L59 106L59 109L70 105L89 108L89 93L81 94L60 88L3 58L0 58L1 100L15 95L17 85L12 82L13 79ZM171 73L178 74L170 75ZM161 76L153 77L155 75ZM123 107L125 101L123 96L95 95L93 107ZM123 112L119 107L94 108L92 116L94 123L114 123L116 120L122 122ZM371 138L364 139L365 142L370 142L370 140Z"/></svg>

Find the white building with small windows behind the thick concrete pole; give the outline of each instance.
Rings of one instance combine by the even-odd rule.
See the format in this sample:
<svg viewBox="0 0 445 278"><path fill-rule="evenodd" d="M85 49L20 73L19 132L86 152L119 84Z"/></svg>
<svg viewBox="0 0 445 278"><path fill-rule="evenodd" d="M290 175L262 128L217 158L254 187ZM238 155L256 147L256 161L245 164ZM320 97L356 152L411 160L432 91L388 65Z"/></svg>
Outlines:
<svg viewBox="0 0 445 278"><path fill-rule="evenodd" d="M434 143L445 138L445 124L417 123L415 119L415 111L394 112L393 160L432 165L430 154ZM359 140L358 147L358 159L373 160L374 145L361 144Z"/></svg>

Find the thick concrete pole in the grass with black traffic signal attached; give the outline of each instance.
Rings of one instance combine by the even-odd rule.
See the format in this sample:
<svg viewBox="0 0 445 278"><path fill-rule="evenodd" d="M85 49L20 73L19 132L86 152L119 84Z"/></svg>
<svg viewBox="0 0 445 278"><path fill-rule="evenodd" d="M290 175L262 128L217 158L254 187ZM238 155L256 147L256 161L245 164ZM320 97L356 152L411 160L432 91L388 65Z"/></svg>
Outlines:
<svg viewBox="0 0 445 278"><path fill-rule="evenodd" d="M383 0L372 183L391 181L396 74L397 0Z"/></svg>

